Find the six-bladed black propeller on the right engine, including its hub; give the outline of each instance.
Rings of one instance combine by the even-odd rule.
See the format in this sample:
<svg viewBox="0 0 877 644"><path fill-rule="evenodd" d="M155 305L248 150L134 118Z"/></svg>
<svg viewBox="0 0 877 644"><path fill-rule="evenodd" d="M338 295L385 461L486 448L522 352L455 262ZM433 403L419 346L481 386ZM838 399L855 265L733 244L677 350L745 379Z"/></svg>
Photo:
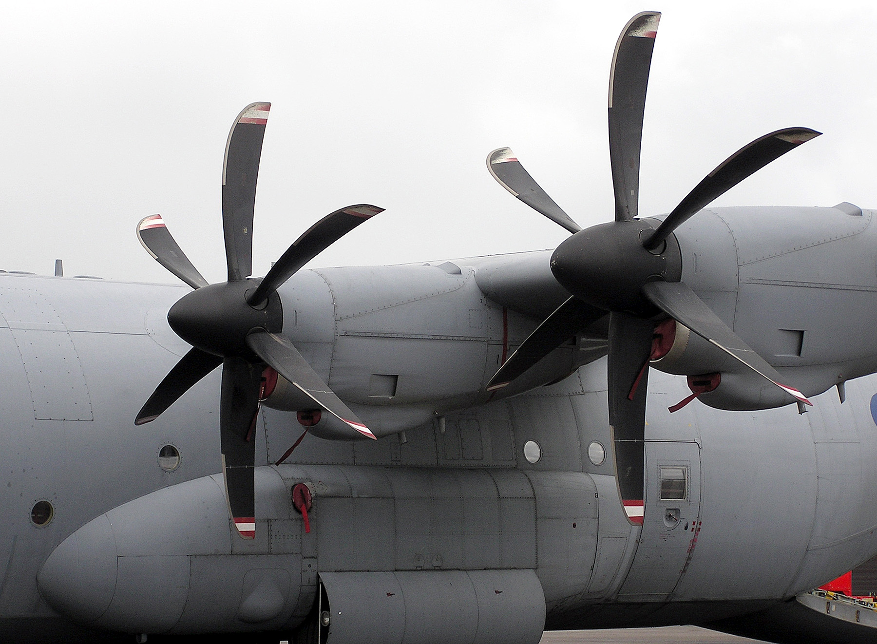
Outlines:
<svg viewBox="0 0 877 644"><path fill-rule="evenodd" d="M667 333L670 318L780 387L789 402L810 404L681 282L681 252L674 230L738 182L819 132L792 127L753 140L706 175L660 225L638 219L645 90L659 20L660 13L651 11L631 18L612 59L609 140L614 221L581 230L509 148L488 156L490 174L503 188L573 233L551 258L553 275L572 297L524 340L490 380L488 390L509 384L596 319L609 315L607 382L618 490L628 519L638 524L644 507L648 365L673 344Z"/></svg>

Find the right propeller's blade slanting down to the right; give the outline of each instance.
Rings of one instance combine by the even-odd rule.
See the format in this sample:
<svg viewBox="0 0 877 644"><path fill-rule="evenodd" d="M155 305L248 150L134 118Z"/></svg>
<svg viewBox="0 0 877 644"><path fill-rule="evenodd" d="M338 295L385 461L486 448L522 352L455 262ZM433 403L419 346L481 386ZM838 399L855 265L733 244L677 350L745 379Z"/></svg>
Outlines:
<svg viewBox="0 0 877 644"><path fill-rule="evenodd" d="M700 335L704 340L722 349L726 354L742 362L759 376L765 377L795 400L812 405L795 387L782 384L782 376L764 358L752 351L736 333L731 331L712 309L707 306L695 291L683 282L651 282L643 287L643 295L683 325Z"/></svg>

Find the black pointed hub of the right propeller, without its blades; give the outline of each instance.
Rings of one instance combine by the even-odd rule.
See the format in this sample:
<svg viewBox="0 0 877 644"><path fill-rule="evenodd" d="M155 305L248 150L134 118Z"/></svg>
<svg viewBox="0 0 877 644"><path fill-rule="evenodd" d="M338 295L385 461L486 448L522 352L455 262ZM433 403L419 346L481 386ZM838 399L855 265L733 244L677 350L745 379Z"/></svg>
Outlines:
<svg viewBox="0 0 877 644"><path fill-rule="evenodd" d="M642 296L643 285L678 282L681 254L674 236L655 251L643 247L652 222L632 219L593 225L554 250L554 277L575 297L606 311L651 317L657 309Z"/></svg>

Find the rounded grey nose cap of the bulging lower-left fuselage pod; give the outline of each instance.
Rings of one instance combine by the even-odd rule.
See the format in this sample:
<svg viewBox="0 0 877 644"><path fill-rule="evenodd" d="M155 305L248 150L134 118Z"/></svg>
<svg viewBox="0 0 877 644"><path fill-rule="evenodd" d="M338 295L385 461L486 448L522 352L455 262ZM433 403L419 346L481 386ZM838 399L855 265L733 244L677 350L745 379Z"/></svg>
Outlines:
<svg viewBox="0 0 877 644"><path fill-rule="evenodd" d="M37 576L39 593L79 622L100 618L116 591L116 540L102 514L61 541Z"/></svg>

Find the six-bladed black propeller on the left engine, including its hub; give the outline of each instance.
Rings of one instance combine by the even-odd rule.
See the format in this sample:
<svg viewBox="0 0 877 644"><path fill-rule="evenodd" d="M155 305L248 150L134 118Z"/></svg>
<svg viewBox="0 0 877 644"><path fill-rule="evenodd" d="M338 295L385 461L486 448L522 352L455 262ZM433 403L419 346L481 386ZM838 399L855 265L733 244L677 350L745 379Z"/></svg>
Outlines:
<svg viewBox="0 0 877 644"><path fill-rule="evenodd" d="M269 103L253 103L240 112L225 145L222 215L228 280L208 284L182 252L160 215L146 217L137 236L162 266L189 284L192 292L168 311L168 323L192 348L134 419L143 425L174 404L186 391L222 365L219 432L225 497L239 536L255 538L255 426L262 374L275 369L301 390L313 408L327 411L350 428L349 438L375 439L368 427L341 402L282 333L283 311L277 289L308 261L356 226L383 211L354 204L332 212L302 234L262 279L252 279L253 211L262 139Z"/></svg>

